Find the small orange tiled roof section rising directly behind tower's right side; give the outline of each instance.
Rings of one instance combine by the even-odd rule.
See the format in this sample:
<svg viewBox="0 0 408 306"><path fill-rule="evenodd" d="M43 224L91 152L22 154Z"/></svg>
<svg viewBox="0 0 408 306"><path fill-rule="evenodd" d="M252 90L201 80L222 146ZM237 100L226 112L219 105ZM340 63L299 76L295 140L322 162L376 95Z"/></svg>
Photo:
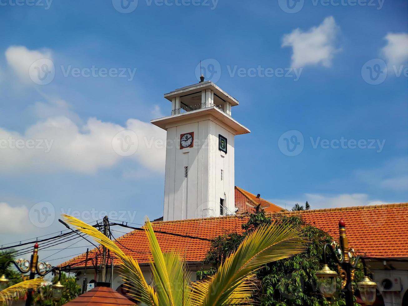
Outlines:
<svg viewBox="0 0 408 306"><path fill-rule="evenodd" d="M261 208L268 213L275 213L282 211L283 209L282 207L264 200L261 197L257 198L256 195L235 186L235 208L238 209L238 215L255 213L255 206L259 204L261 204Z"/></svg>

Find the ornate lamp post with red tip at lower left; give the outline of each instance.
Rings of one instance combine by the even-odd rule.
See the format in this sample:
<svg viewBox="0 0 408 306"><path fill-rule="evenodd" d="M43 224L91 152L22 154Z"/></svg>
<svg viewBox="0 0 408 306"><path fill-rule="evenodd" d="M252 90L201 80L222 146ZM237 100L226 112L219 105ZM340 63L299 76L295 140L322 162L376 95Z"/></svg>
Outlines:
<svg viewBox="0 0 408 306"><path fill-rule="evenodd" d="M29 279L34 279L35 275L40 275L40 276L45 276L48 273L56 273L58 272L58 281L52 285L52 291L53 291L53 299L55 300L60 300L62 296L62 288L64 288L63 285L61 285L60 280L61 280L61 270L58 267L53 267L51 266L48 262L38 262L38 243L34 245L34 251L33 254L31 255L31 260L24 260L24 259L18 259L16 261L14 260L9 260L4 264L4 270L7 268L9 264L14 264L16 266L17 270L22 273L28 273L29 274ZM7 285L9 280L5 277L5 275L2 275L0 277L0 286ZM31 305L31 301L33 300L33 290L29 289L27 293L27 299L26 299L26 306Z"/></svg>

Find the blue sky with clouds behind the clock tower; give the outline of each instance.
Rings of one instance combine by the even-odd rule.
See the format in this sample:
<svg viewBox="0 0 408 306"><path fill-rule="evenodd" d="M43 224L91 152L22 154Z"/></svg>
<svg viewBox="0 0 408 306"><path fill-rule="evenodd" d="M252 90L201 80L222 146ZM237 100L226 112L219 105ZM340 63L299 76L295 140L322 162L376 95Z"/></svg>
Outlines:
<svg viewBox="0 0 408 306"><path fill-rule="evenodd" d="M61 211L162 216L164 150L141 139L165 137L149 120L200 60L251 129L235 140L237 186L287 208L407 201L406 1L118 1L0 0L0 139L54 140L0 149L0 244L63 230ZM55 76L38 84L44 58ZM112 150L123 129L131 157ZM42 202L55 213L39 228Z"/></svg>

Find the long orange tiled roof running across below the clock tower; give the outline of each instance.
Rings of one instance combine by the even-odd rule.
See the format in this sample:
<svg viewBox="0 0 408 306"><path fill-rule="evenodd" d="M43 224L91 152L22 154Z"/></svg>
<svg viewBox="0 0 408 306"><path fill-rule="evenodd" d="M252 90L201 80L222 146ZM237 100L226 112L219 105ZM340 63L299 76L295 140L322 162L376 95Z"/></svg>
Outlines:
<svg viewBox="0 0 408 306"><path fill-rule="evenodd" d="M309 224L316 226L337 239L340 219L346 222L350 247L368 257L408 257L408 203L375 206L327 208L284 214L301 214ZM241 225L247 215L206 219L191 219L153 223L155 231L166 231L213 239L224 233L242 233ZM186 253L188 262L201 262L209 250L210 242L186 237L156 233L162 251L173 249ZM148 244L143 231L132 231L118 239L122 250L141 263L149 262ZM130 251L130 250L132 251ZM95 258L95 251L89 258ZM82 254L60 266L83 266Z"/></svg>

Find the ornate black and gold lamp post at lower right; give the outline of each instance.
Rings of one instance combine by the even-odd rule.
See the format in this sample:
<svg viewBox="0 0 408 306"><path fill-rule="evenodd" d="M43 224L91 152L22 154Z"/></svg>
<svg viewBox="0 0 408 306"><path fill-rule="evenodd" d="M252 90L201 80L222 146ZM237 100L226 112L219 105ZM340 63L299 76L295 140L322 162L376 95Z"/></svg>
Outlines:
<svg viewBox="0 0 408 306"><path fill-rule="evenodd" d="M364 304L373 305L375 302L375 288L377 287L377 284L368 277L364 258L361 257L361 255L355 257L353 249L349 248L348 239L346 236L346 224L342 219L339 222L339 236L338 246L333 247L331 244L326 243L323 247L322 257L324 259L324 265L322 270L316 272L316 276L319 279L319 290L324 297L333 297L337 287L336 278L339 276L341 279L341 289L346 289L346 306L353 306L354 290L351 282L354 280L355 268L361 260L364 267L364 278L361 282L357 283L357 288L360 291L361 299L363 300ZM327 249L330 250L331 257L337 261L339 275L337 272L330 270L327 265Z"/></svg>

